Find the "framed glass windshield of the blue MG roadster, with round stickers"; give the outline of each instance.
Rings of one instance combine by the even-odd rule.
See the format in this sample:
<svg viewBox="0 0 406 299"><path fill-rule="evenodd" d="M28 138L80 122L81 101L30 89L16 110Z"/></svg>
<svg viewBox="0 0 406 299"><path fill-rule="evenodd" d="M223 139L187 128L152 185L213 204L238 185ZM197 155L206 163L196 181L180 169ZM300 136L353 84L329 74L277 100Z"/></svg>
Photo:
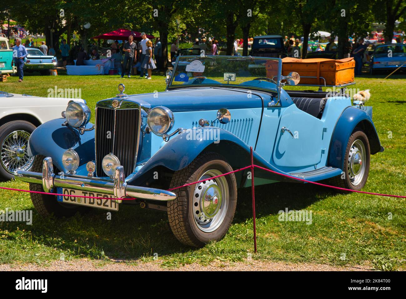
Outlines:
<svg viewBox="0 0 406 299"><path fill-rule="evenodd" d="M275 90L280 74L279 58L180 56L173 69L169 87L238 85Z"/></svg>

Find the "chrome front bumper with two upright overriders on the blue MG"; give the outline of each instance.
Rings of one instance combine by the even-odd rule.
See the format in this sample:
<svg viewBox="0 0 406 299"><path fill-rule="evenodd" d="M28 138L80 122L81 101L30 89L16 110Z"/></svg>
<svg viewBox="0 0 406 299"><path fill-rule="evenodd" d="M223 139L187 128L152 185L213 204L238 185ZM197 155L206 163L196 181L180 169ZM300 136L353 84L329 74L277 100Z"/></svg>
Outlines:
<svg viewBox="0 0 406 299"><path fill-rule="evenodd" d="M50 192L54 187L62 187L79 191L102 193L103 195L114 195L116 198L135 197L138 199L160 201L168 201L176 198L176 194L170 191L127 185L123 166L117 166L114 182L96 178L55 175L51 157L47 157L43 160L42 173L24 170L17 170L16 173L17 176L15 176L15 178L17 180L41 184L45 192ZM54 193L56 193L55 190Z"/></svg>

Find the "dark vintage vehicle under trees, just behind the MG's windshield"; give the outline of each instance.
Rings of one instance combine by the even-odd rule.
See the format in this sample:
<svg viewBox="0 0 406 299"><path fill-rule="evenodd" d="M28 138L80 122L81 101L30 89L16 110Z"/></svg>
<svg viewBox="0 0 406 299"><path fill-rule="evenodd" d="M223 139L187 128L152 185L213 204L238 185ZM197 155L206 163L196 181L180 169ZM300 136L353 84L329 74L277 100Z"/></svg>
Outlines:
<svg viewBox="0 0 406 299"><path fill-rule="evenodd" d="M287 51L283 46L281 35L259 35L254 37L250 55L274 58L281 56L281 58L284 58L287 56Z"/></svg>

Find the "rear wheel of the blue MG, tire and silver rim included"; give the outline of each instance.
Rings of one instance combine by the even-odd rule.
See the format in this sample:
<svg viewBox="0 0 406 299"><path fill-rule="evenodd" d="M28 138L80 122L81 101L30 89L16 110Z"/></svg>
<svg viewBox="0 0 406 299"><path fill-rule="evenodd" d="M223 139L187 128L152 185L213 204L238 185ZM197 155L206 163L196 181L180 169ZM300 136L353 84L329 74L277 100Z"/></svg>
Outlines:
<svg viewBox="0 0 406 299"><path fill-rule="evenodd" d="M343 176L333 178L335 186L361 190L367 182L369 173L370 150L367 135L356 128L348 140L343 165Z"/></svg>

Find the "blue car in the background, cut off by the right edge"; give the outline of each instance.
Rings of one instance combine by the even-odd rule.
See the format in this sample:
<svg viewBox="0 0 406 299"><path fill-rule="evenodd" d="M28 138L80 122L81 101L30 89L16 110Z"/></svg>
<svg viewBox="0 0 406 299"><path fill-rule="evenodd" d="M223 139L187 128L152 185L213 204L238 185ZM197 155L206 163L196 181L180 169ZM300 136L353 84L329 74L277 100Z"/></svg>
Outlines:
<svg viewBox="0 0 406 299"><path fill-rule="evenodd" d="M403 43L391 43L378 45L369 64L370 74L378 71L394 71L403 65L400 70L406 69L406 45Z"/></svg>

